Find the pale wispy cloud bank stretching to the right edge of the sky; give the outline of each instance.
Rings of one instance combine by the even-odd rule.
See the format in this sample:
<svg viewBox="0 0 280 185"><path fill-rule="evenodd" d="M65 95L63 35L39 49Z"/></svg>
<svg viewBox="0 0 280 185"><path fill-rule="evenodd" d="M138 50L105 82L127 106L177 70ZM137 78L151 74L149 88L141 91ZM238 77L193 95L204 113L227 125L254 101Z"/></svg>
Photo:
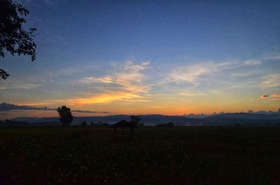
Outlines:
<svg viewBox="0 0 280 185"><path fill-rule="evenodd" d="M278 56L278 55L277 55ZM269 58L279 59L270 56ZM182 89L254 89L280 87L280 75L273 74L267 58L202 61L179 64L165 77L162 84L177 84ZM186 83L186 84L184 84ZM242 91L242 90L241 90Z"/></svg>

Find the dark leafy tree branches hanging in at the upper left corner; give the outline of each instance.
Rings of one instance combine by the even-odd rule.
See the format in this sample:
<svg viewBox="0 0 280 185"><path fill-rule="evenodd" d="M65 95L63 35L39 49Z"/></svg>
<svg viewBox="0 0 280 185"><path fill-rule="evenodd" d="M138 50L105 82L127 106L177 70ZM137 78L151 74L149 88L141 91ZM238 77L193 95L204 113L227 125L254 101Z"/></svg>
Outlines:
<svg viewBox="0 0 280 185"><path fill-rule="evenodd" d="M0 0L0 56L5 57L4 50L15 54L30 55L31 61L36 59L36 44L33 41L34 31L22 29L22 24L26 22L23 16L27 16L29 11L20 3L12 0ZM6 80L9 76L6 71L0 68L0 80Z"/></svg>

